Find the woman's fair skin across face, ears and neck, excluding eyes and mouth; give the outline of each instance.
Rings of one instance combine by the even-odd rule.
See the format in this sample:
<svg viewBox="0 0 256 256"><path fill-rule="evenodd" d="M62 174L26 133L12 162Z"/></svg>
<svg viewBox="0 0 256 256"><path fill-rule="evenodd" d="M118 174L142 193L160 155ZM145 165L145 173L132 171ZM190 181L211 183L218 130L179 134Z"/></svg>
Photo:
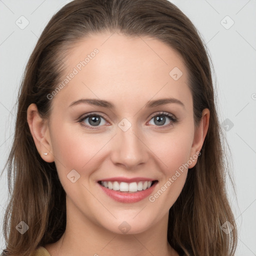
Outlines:
<svg viewBox="0 0 256 256"><path fill-rule="evenodd" d="M116 176L149 177L158 180L154 194L179 166L200 151L209 110L203 110L195 127L182 58L168 45L146 36L91 35L70 50L65 75L94 48L99 50L95 57L51 99L48 119L40 118L35 104L27 109L36 148L43 160L55 161L66 192L66 230L45 248L51 256L113 255L116 251L122 256L176 256L166 237L168 210L180 194L189 169L180 172L154 202L148 197L135 203L117 202L102 192L96 181ZM183 73L178 80L169 75L173 67ZM149 100L166 97L176 98L184 106L167 103L145 107ZM104 99L115 109L85 103L69 107L80 98ZM157 125L153 116L160 111L174 115L178 122L166 117L164 124ZM88 118L83 120L95 129L78 121L91 112L105 117L96 127ZM118 126L123 118L131 124L126 131ZM80 174L74 183L67 178L72 169ZM131 227L127 233L118 228L123 221Z"/></svg>

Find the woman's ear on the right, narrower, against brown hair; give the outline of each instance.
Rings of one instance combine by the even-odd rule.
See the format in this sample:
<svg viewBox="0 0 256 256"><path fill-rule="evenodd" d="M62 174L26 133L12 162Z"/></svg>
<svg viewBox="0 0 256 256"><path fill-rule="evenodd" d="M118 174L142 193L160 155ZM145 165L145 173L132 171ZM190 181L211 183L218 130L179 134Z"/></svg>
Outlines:
<svg viewBox="0 0 256 256"><path fill-rule="evenodd" d="M210 116L209 109L204 108L202 111L200 123L194 130L194 138L193 138L193 143L191 146L190 158L189 158L192 163L189 164L188 168L192 168L197 162L199 152L202 148L202 144L203 144L204 138L207 134L207 130L209 127L209 116Z"/></svg>

